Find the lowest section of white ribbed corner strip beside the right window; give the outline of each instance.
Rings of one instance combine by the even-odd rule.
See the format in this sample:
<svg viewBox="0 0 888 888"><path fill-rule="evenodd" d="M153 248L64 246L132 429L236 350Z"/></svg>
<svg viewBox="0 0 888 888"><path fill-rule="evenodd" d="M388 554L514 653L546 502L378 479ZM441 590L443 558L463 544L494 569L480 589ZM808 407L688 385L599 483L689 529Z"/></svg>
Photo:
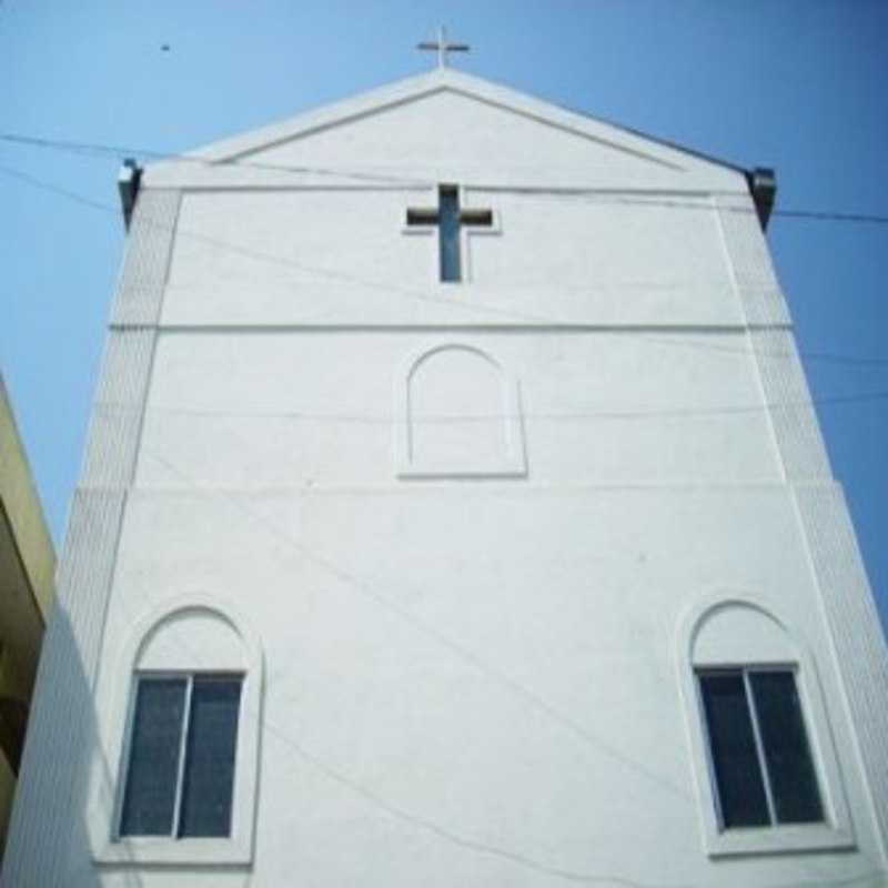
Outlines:
<svg viewBox="0 0 888 888"><path fill-rule="evenodd" d="M882 847L888 849L888 648L838 484L794 488Z"/></svg>

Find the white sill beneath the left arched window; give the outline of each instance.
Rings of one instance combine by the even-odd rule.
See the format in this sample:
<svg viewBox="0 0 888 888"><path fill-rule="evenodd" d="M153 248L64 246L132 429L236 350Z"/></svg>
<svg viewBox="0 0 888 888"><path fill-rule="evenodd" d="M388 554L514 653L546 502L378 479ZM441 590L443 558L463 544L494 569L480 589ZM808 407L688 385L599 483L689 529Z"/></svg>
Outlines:
<svg viewBox="0 0 888 888"><path fill-rule="evenodd" d="M252 849L245 841L230 838L172 839L142 836L107 841L93 851L97 864L151 864L154 866L245 866Z"/></svg>

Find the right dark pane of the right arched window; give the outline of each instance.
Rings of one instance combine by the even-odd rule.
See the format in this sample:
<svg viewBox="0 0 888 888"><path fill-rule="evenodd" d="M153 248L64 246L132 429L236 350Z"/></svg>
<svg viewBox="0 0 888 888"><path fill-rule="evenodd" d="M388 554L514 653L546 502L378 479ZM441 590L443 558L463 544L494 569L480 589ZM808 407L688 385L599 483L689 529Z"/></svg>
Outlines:
<svg viewBox="0 0 888 888"><path fill-rule="evenodd" d="M795 675L789 670L753 672L749 683L753 686L777 821L810 824L823 820L824 809Z"/></svg>

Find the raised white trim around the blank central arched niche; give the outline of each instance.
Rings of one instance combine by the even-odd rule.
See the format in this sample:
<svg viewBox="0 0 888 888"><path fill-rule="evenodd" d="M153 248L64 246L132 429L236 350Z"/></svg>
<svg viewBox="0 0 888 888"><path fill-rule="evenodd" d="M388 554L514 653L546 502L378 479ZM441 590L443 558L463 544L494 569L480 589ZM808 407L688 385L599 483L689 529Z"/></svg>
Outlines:
<svg viewBox="0 0 888 888"><path fill-rule="evenodd" d="M446 462L430 462L421 454L414 453L411 384L416 372L427 360L445 351L475 354L500 374L505 448L497 461L480 462L476 465L454 465ZM425 343L412 350L398 366L395 377L394 416L395 474L400 478L485 478L527 475L518 382L481 345L465 340L446 340Z"/></svg>

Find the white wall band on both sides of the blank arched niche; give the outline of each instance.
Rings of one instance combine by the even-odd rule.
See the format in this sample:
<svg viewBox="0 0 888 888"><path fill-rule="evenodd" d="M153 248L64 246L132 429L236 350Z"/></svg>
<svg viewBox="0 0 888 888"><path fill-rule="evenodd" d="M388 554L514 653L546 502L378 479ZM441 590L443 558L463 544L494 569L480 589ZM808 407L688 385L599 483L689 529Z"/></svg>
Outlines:
<svg viewBox="0 0 888 888"><path fill-rule="evenodd" d="M396 389L406 385L405 359L435 341L424 331L163 334L139 481L394 486L395 440L407 421ZM501 402L498 411L519 410L534 482L780 477L743 335L516 331L462 341L484 347L521 386L519 405ZM446 417L454 405L426 410ZM460 434L486 422L468 425L457 422Z"/></svg>

